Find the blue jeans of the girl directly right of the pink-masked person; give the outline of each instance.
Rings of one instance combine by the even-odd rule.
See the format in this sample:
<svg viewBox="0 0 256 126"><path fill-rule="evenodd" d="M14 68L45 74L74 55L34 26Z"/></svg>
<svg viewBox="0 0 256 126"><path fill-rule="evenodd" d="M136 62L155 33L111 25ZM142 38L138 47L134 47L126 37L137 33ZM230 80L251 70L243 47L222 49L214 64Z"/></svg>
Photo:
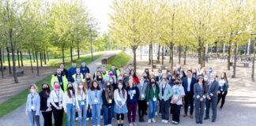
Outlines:
<svg viewBox="0 0 256 126"><path fill-rule="evenodd" d="M73 106L72 104L66 104L66 124L70 126L70 119L71 119L71 125L74 126L75 121L75 113L76 113L76 106Z"/></svg>

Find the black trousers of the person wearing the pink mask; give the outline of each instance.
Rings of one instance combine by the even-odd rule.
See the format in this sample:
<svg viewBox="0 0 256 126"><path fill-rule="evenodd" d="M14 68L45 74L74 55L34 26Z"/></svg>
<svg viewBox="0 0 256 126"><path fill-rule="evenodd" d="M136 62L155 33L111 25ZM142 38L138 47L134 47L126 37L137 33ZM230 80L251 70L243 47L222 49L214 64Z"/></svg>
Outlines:
<svg viewBox="0 0 256 126"><path fill-rule="evenodd" d="M58 103L55 102L58 106ZM62 126L62 119L63 119L63 109L56 109L55 106L52 107L52 112L54 113L55 118L55 126Z"/></svg>

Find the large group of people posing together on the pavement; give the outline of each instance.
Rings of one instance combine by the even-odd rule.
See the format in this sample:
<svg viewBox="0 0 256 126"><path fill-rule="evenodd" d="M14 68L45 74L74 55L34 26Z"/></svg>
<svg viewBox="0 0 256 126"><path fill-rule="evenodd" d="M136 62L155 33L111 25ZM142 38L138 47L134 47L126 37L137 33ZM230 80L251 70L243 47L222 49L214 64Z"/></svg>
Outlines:
<svg viewBox="0 0 256 126"><path fill-rule="evenodd" d="M168 123L172 114L172 124L179 124L180 109L183 106L187 117L190 109L190 118L197 124L202 124L205 111L205 120L209 119L209 108L212 106L212 121L216 121L216 106L221 101L220 109L224 106L225 96L228 93L228 79L225 72L220 77L213 68L209 72L198 66L198 69L184 69L178 64L177 69L171 72L168 68L165 73L158 70L157 76L149 74L149 69L138 78L129 65L127 69L111 65L97 68L90 75L85 61L77 67L72 61L69 70L60 64L55 75L51 76L51 83L42 83L42 91L38 94L38 87L32 84L31 92L26 103L26 114L31 125L40 125L40 112L43 115L44 125L52 125L52 113L55 126L62 126L63 113L66 113L66 124L86 125L92 120L92 125L99 126L104 117L104 125L111 126L116 118L118 126L123 126L124 114L130 126L136 126L138 113L139 122L156 123L155 116L161 115L161 122ZM137 109L138 107L138 109ZM149 109L149 113L148 112ZM159 112L158 112L159 109ZM116 113L116 116L115 114Z"/></svg>

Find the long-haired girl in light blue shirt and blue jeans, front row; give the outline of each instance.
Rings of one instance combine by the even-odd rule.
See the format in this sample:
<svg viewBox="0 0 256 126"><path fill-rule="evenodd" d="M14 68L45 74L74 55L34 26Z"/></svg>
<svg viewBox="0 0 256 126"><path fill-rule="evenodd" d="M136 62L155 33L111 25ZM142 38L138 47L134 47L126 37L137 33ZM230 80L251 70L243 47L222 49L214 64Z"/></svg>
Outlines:
<svg viewBox="0 0 256 126"><path fill-rule="evenodd" d="M92 81L92 87L88 90L88 103L90 109L92 109L92 125L96 125L96 116L97 116L97 125L100 126L100 109L102 109L102 90L99 83L94 80Z"/></svg>

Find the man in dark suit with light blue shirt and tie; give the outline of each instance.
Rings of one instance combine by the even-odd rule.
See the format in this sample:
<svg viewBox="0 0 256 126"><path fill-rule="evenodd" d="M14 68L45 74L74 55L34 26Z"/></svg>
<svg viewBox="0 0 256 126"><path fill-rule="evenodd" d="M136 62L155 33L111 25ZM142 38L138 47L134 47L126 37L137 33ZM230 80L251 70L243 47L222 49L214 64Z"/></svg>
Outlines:
<svg viewBox="0 0 256 126"><path fill-rule="evenodd" d="M184 87L184 91L185 91L185 97L184 97L184 101L185 101L185 106L184 106L184 110L185 110L185 114L183 115L183 117L187 116L187 108L188 108L188 104L190 103L190 118L193 118L193 110L194 110L194 83L196 83L196 79L194 77L192 77L192 70L189 69L186 71L186 77L183 78L183 87Z"/></svg>

